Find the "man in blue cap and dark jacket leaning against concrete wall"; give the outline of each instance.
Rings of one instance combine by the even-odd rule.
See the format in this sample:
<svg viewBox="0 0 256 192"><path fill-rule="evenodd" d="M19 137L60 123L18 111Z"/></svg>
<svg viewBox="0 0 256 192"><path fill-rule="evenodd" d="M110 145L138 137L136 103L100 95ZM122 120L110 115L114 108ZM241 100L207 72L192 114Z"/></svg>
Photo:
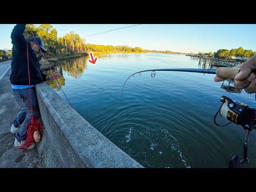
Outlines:
<svg viewBox="0 0 256 192"><path fill-rule="evenodd" d="M23 35L25 28L26 24L17 24L14 26L11 34L13 45L12 73L10 76L12 95L22 109L15 120L11 122L10 131L15 133L14 146L16 147L20 147L25 143L24 140L27 136L26 126L30 121L29 116L40 117L35 90L36 84L60 77L60 74L57 72L50 75L45 75L41 72L39 63L40 57L38 57L38 55L41 51L44 53L47 52L44 48L44 42L38 37L32 37L27 41ZM28 63L30 82L28 78ZM30 101L30 94L32 102ZM21 128L20 124L22 124ZM34 147L35 144L33 143L28 149Z"/></svg>

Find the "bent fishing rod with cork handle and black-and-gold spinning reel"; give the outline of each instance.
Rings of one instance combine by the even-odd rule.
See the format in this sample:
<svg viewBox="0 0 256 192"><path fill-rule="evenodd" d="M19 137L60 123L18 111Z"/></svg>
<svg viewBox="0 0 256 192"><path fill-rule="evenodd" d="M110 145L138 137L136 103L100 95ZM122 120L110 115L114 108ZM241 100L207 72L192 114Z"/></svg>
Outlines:
<svg viewBox="0 0 256 192"><path fill-rule="evenodd" d="M216 74L219 77L222 78L232 78L234 79L235 76L240 72L240 68L226 68L226 67L219 67L217 69L193 69L193 68L171 68L171 69L153 69L153 70L144 70L136 72L132 75L130 75L124 85L126 84L127 80L135 75L140 74L142 72L151 71L151 77L154 77L156 75L156 71L180 71L180 72L196 72L196 73L206 73L206 74ZM123 92L124 86L122 88ZM121 96L122 97L122 92ZM229 162L229 168L240 168L241 166L244 166L249 162L249 159L247 157L247 151L248 151L248 142L249 142L249 136L250 131L256 128L256 109L250 108L248 105L243 104L241 102L236 102L226 96L222 96L220 99L220 102L222 102L218 112L216 112L214 116L214 123L217 126L226 126L230 124L231 122L237 125L241 125L244 130L246 131L245 137L244 137L244 157L242 160L239 161L239 157L237 155L234 155L230 162ZM224 125L219 125L216 122L216 117L218 114L226 119L228 119L230 122Z"/></svg>

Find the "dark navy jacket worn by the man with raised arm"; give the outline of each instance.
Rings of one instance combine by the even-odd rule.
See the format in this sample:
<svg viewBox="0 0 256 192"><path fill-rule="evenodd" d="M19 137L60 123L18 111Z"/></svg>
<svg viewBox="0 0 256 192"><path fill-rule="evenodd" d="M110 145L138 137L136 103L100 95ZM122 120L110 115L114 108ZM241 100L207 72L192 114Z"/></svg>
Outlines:
<svg viewBox="0 0 256 192"><path fill-rule="evenodd" d="M17 24L14 26L11 34L12 39L12 74L10 81L13 85L29 85L28 63L30 74L30 85L46 81L45 74L40 70L40 63L31 48L29 42L24 38L26 24ZM28 57L27 57L28 49Z"/></svg>

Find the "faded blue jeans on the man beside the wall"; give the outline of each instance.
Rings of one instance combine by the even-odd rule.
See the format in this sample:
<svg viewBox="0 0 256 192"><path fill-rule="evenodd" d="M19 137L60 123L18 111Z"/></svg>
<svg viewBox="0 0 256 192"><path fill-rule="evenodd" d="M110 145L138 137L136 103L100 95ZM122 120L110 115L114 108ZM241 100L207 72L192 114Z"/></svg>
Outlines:
<svg viewBox="0 0 256 192"><path fill-rule="evenodd" d="M33 116L36 118L40 117L40 110L38 106L38 100L36 96L35 87L30 88L32 104L30 102L30 92L29 88L26 89L12 89L12 95L14 96L16 102L21 107L21 111L16 116L15 120L12 122L14 126L18 126L22 124L20 131L15 134L15 137L20 142L21 140L25 140L27 137L27 125L30 121L29 116L32 115L31 107L33 111Z"/></svg>

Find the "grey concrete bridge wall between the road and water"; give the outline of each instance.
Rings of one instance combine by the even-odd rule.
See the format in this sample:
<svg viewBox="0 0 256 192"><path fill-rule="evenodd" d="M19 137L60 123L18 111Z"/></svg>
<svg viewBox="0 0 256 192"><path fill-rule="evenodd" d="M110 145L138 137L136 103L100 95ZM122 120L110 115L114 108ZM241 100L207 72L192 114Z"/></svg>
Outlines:
<svg viewBox="0 0 256 192"><path fill-rule="evenodd" d="M51 168L143 168L70 107L45 82L36 85L44 124L38 153Z"/></svg>

